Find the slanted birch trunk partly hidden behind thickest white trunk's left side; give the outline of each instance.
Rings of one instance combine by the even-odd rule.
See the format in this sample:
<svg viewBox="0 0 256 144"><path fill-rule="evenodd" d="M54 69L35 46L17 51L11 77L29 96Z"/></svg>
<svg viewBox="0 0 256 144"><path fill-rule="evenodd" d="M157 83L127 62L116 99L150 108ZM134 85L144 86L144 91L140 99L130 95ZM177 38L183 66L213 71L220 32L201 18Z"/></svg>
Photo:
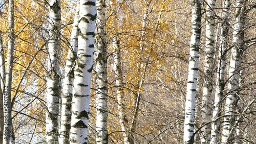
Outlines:
<svg viewBox="0 0 256 144"><path fill-rule="evenodd" d="M70 38L70 49L68 52L66 67L65 67L65 78L63 80L63 94L62 94L62 105L61 105L61 124L60 124L60 135L59 143L69 143L69 132L71 122L71 102L73 95L73 83L74 83L74 65L77 56L77 30L78 30L78 19L79 19L79 1L76 6L76 13L74 17L73 28Z"/></svg>

